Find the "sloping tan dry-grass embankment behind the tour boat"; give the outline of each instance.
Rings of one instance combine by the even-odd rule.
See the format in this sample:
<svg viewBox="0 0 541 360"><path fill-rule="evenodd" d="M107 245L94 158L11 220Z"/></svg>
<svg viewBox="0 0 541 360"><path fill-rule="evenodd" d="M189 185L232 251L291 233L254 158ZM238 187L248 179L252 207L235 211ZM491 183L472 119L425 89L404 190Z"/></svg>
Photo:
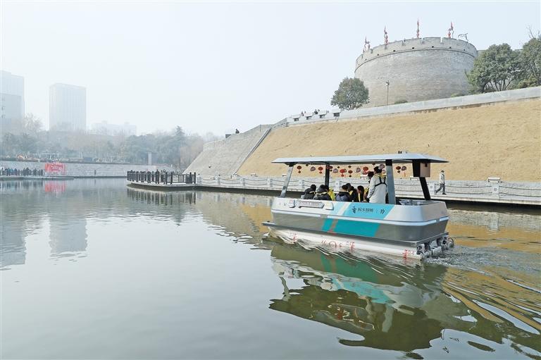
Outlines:
<svg viewBox="0 0 541 360"><path fill-rule="evenodd" d="M328 120L274 128L237 171L280 176L278 157L387 154L399 150L441 156L433 164L448 180L539 182L541 99L441 108L388 116ZM303 169L297 176L310 176ZM403 174L401 174L403 175ZM409 173L406 172L406 175Z"/></svg>

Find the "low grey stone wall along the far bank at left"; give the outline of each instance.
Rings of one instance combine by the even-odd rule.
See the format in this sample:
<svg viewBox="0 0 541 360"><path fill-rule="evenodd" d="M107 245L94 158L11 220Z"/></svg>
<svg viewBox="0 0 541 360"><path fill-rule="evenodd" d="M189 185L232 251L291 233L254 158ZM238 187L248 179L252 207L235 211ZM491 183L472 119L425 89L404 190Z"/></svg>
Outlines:
<svg viewBox="0 0 541 360"><path fill-rule="evenodd" d="M0 166L4 168L30 168L33 169L45 169L45 164L37 161L0 161ZM130 164L116 164L116 163L64 163L66 165L67 176L126 176L126 172L129 170L134 171L156 171L159 170L171 171L173 168L170 166L148 166L148 165L130 165ZM96 173L94 174L94 170Z"/></svg>

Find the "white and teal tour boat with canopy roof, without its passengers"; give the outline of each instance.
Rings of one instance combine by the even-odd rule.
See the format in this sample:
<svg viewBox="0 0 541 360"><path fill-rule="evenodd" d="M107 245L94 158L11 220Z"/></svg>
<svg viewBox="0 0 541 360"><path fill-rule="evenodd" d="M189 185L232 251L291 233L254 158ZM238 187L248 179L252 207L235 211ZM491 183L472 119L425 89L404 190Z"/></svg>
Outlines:
<svg viewBox="0 0 541 360"><path fill-rule="evenodd" d="M430 163L446 160L425 154L379 154L363 156L315 156L279 158L273 163L289 166L280 197L273 199L272 221L264 222L269 235L285 242L306 242L343 252L380 252L407 259L437 256L453 246L445 231L449 214L444 201L430 199L426 178ZM385 164L388 204L305 200L285 197L294 166L319 165L329 185L333 167ZM397 199L393 166L410 164L424 199ZM323 170L322 170L323 172Z"/></svg>

